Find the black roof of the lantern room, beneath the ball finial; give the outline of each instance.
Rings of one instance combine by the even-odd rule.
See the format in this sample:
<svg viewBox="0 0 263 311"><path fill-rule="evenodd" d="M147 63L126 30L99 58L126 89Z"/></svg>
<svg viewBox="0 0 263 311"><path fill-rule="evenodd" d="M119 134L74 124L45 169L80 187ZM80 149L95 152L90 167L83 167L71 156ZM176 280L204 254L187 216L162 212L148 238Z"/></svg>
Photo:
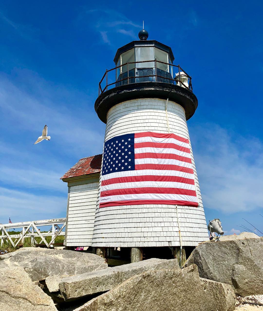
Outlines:
<svg viewBox="0 0 263 311"><path fill-rule="evenodd" d="M128 44L125 44L121 48L117 49L116 55L114 57L114 63L115 64L117 63L117 61L120 57L120 54L122 54L122 53L124 53L130 49L133 49L136 46L156 46L156 48L161 49L161 50L163 50L169 54L171 62L173 62L175 59L173 51L170 48L170 46L168 46L168 45L162 44L161 42L158 42L156 40L138 40L138 41L136 40L136 41L132 41Z"/></svg>

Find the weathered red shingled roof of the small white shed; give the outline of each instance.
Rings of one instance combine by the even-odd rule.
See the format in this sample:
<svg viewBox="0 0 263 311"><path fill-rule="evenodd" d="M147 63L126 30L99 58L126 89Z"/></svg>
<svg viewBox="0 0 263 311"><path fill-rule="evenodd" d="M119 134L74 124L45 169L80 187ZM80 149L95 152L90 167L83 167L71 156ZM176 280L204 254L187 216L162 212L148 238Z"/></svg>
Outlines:
<svg viewBox="0 0 263 311"><path fill-rule="evenodd" d="M61 179L100 173L101 161L102 155L89 156L88 158L80 159L61 177Z"/></svg>

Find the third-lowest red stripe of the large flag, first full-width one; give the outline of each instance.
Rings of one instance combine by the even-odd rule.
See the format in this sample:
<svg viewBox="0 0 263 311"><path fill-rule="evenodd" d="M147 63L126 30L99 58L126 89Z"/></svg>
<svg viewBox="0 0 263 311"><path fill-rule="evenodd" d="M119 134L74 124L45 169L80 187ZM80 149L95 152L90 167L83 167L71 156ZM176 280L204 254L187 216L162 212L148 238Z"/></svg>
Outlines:
<svg viewBox="0 0 263 311"><path fill-rule="evenodd" d="M185 178L185 177L179 177L179 176L156 176L156 175L143 175L143 176L128 176L128 177L119 177L119 178L111 178L102 180L101 185L107 186L111 185L113 183L132 183L132 182L138 182L138 181L168 181L168 182L176 182L176 183L188 183L190 185L194 185L194 180Z"/></svg>

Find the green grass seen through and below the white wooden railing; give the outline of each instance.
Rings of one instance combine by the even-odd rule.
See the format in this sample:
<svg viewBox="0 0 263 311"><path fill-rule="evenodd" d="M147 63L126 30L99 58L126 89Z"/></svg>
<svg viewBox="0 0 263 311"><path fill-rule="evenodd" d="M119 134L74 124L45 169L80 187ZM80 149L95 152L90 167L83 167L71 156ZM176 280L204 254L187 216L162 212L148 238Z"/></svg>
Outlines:
<svg viewBox="0 0 263 311"><path fill-rule="evenodd" d="M48 231L41 231L41 233L47 233ZM20 234L20 231L9 231L8 234L11 236L12 234ZM45 237L46 241L49 243L51 241L51 235L50 236L47 236ZM35 237L37 243L36 244L44 244L44 242L41 240L41 238L38 236L38 237ZM15 243L15 240L16 239L12 239L12 241ZM64 236L57 236L55 241L53 242L54 244L56 243L63 243L64 242ZM11 242L8 240L6 240L4 242L4 244L2 246L0 246L0 249L1 250L7 250L8 253L10 252L14 252L15 250L17 250L18 248L21 247L21 245L23 247L31 247L31 246L34 246L34 245L31 245L31 238L25 238L25 241L24 243L22 244L22 241L20 241L19 243L19 246L16 246L16 247L13 247L13 245L11 244Z"/></svg>

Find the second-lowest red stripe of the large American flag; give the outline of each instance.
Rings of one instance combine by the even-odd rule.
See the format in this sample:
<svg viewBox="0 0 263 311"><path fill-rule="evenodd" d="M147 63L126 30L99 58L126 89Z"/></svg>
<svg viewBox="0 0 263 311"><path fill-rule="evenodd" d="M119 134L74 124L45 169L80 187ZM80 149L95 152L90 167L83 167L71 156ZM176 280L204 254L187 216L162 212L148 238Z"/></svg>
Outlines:
<svg viewBox="0 0 263 311"><path fill-rule="evenodd" d="M112 195L122 195L122 194L141 194L141 193L185 194L196 197L195 190L188 190L182 188L162 188L162 187L113 189L101 191L101 197L109 197Z"/></svg>

